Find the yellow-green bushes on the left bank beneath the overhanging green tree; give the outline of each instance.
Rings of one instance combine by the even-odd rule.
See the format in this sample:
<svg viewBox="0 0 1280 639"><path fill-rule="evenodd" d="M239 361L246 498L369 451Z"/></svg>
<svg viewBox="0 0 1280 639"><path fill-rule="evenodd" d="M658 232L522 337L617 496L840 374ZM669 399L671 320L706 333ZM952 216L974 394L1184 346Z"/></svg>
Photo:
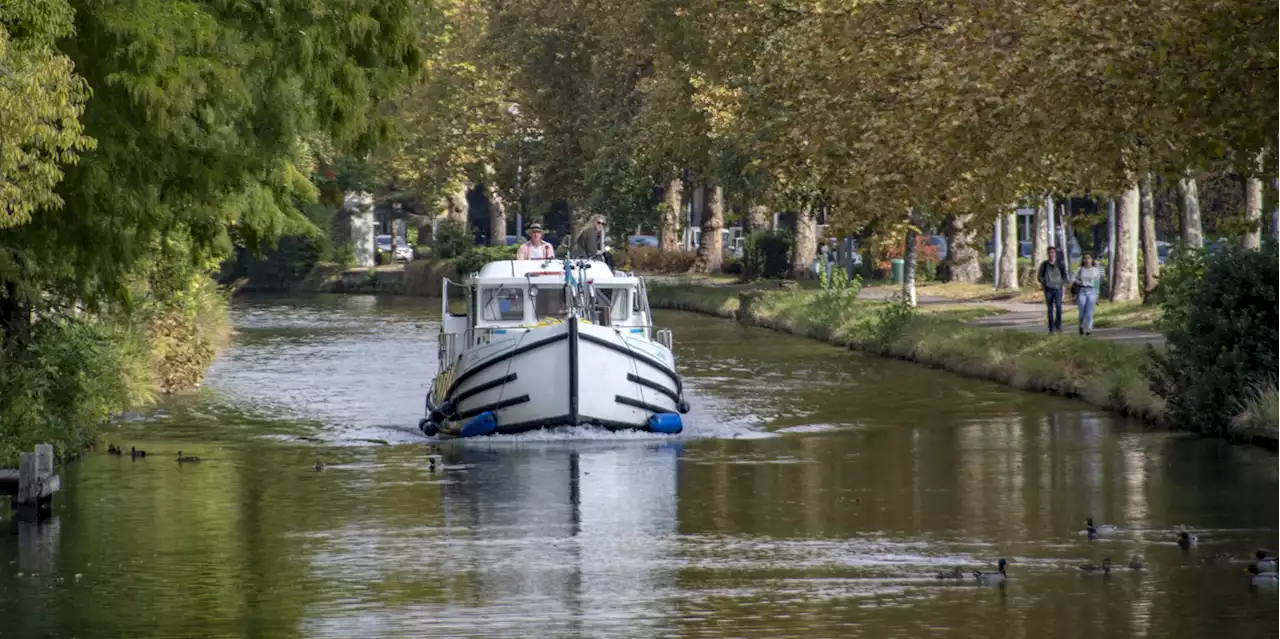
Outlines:
<svg viewBox="0 0 1280 639"><path fill-rule="evenodd" d="M0 352L0 467L37 443L76 456L113 416L204 379L230 336L224 292L206 275L137 287L128 312L49 312Z"/></svg>

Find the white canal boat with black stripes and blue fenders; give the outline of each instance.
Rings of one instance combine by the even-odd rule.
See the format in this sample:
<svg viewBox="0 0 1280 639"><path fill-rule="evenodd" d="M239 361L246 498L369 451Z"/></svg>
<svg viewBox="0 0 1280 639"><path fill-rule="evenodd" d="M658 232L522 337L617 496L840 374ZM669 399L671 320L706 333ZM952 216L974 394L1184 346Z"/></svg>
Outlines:
<svg viewBox="0 0 1280 639"><path fill-rule="evenodd" d="M463 288L466 312L451 312L451 286ZM672 334L653 328L644 279L594 260L508 260L443 289L425 434L682 430Z"/></svg>

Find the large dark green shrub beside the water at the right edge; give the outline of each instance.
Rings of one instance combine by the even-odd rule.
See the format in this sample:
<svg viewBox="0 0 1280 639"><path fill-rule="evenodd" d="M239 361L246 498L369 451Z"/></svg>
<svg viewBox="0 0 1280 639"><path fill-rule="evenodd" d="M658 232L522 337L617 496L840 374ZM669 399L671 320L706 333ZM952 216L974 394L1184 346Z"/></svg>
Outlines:
<svg viewBox="0 0 1280 639"><path fill-rule="evenodd" d="M1153 353L1152 388L1175 423L1211 434L1228 433L1229 407L1245 393L1280 378L1280 250L1228 248L1176 256L1161 277L1169 341Z"/></svg>

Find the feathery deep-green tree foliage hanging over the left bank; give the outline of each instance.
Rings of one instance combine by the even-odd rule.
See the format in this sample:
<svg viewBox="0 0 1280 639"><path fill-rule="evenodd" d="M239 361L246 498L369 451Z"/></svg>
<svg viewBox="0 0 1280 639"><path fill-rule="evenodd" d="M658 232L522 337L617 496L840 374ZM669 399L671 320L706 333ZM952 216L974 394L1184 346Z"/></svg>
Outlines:
<svg viewBox="0 0 1280 639"><path fill-rule="evenodd" d="M36 206L29 220L0 232L0 278L28 303L127 300L134 266L168 255L163 237L186 238L182 255L204 264L233 243L257 247L307 228L296 202L316 195L310 141L372 147L388 128L379 105L420 64L410 0L32 6L9 28L26 40L38 33L29 24L74 15L32 51L54 68L74 64L78 79L64 78L63 95L81 95L77 82L92 88L79 127L96 147L58 184L63 211L40 206L37 187L24 200ZM42 86L56 90L52 79ZM35 134L60 145L59 160L83 147L72 124L81 102L65 102L64 133Z"/></svg>

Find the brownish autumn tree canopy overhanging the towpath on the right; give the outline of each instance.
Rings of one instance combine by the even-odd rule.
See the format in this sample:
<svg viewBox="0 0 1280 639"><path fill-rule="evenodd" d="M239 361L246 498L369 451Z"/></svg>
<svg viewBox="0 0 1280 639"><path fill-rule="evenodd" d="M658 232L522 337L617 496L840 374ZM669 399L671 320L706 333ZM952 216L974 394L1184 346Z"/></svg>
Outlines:
<svg viewBox="0 0 1280 639"><path fill-rule="evenodd" d="M500 95L540 143L527 170L579 206L616 206L687 170L735 201L820 197L856 227L906 211L991 219L1046 192L1119 193L1146 173L1276 173L1276 154L1254 161L1280 131L1274 3L456 6L468 37L440 64L484 82L420 91L474 85L465 95L480 102L419 110L420 129L445 133L422 158L508 146L443 125L463 111L492 122L475 105Z"/></svg>

